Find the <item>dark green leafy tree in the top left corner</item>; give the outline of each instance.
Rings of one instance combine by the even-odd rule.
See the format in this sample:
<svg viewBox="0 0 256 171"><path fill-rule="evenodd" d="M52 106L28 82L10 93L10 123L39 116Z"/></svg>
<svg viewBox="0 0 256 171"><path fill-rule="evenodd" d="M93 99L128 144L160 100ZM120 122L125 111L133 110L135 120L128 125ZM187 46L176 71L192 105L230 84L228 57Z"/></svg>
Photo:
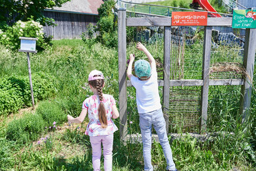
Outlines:
<svg viewBox="0 0 256 171"><path fill-rule="evenodd" d="M0 0L0 26L18 20L28 21L29 18L34 18L43 26L53 25L54 20L43 16L43 10L61 7L67 1L70 0Z"/></svg>

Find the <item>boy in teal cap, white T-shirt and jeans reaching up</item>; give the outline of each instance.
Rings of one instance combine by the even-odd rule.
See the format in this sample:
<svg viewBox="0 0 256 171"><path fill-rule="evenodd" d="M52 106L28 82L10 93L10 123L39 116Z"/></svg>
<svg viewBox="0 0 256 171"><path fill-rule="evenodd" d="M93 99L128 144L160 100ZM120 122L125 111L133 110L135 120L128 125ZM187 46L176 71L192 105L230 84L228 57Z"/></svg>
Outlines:
<svg viewBox="0 0 256 171"><path fill-rule="evenodd" d="M155 59L140 42L137 44L137 49L147 55L150 64L145 60L136 61L134 69L138 77L135 77L132 74L134 55L131 54L126 74L131 80L132 85L136 88L136 101L140 114L140 130L143 142L144 170L153 170L151 164L151 128L153 124L165 154L167 162L166 170L174 171L176 167L172 160L172 150L170 149L166 134L165 118L163 116L158 91Z"/></svg>

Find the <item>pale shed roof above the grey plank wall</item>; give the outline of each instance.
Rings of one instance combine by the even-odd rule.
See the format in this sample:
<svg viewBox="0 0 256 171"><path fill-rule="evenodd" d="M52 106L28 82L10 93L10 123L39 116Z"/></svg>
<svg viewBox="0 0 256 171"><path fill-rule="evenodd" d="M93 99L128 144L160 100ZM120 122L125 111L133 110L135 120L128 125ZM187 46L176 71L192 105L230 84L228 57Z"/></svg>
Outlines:
<svg viewBox="0 0 256 171"><path fill-rule="evenodd" d="M97 9L103 3L102 0L71 0L62 7L53 7L53 11L80 12L86 14L98 14Z"/></svg>

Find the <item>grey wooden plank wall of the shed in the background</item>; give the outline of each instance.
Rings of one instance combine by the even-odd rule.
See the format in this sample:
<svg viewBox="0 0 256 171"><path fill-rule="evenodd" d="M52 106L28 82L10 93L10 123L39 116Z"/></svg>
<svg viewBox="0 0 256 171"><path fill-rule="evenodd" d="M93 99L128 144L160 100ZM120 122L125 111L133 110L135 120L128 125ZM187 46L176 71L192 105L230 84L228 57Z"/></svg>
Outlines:
<svg viewBox="0 0 256 171"><path fill-rule="evenodd" d="M46 17L53 18L57 26L44 26L43 32L53 39L80 39L82 32L87 31L88 25L97 22L97 15L76 14L68 12L43 11Z"/></svg>

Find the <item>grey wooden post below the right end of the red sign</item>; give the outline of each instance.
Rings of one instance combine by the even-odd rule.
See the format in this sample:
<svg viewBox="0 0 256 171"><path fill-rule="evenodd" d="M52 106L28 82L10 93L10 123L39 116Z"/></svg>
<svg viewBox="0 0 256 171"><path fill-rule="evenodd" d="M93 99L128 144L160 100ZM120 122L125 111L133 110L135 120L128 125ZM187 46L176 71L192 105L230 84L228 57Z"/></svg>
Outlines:
<svg viewBox="0 0 256 171"><path fill-rule="evenodd" d="M206 130L207 121L207 107L208 107L208 93L209 93L209 68L211 59L211 33L212 27L205 26L205 34L203 37L203 70L202 79L203 86L201 88L201 121L200 121L200 134Z"/></svg>

